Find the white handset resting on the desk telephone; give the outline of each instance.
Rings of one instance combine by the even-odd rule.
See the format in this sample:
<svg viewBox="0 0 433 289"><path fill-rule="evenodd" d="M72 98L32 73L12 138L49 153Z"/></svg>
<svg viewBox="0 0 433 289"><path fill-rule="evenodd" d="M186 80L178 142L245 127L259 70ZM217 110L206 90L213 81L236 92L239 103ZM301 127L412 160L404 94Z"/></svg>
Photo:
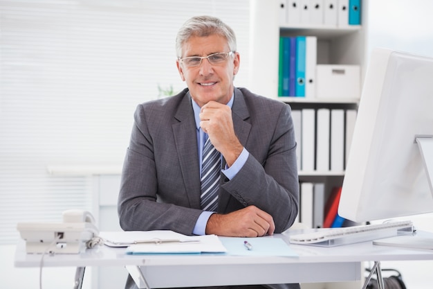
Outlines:
<svg viewBox="0 0 433 289"><path fill-rule="evenodd" d="M62 215L63 215L63 222L65 223L68 222L84 223L86 233L89 233L83 235L85 236L84 241L86 241L86 247L93 248L96 245L101 243L101 239L98 237L99 230L98 227L96 227L95 225L96 223L95 218L89 211L82 210L82 209L68 209L66 211L63 211Z"/></svg>

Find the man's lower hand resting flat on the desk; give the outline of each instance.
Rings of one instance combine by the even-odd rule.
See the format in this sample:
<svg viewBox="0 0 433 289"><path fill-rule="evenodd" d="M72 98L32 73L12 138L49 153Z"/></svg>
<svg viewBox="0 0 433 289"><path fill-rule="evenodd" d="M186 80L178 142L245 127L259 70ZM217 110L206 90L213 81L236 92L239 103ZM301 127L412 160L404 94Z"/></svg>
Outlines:
<svg viewBox="0 0 433 289"><path fill-rule="evenodd" d="M255 206L224 215L214 213L206 225L206 234L228 237L261 237L274 231L272 216Z"/></svg>

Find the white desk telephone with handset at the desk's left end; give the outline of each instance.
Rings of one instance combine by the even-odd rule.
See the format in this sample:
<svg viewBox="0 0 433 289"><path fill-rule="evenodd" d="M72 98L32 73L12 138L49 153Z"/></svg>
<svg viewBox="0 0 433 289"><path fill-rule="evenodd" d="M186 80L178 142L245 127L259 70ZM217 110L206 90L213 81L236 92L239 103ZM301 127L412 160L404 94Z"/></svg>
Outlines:
<svg viewBox="0 0 433 289"><path fill-rule="evenodd" d="M27 253L78 254L102 243L95 218L81 209L64 211L63 222L19 222L17 229Z"/></svg>

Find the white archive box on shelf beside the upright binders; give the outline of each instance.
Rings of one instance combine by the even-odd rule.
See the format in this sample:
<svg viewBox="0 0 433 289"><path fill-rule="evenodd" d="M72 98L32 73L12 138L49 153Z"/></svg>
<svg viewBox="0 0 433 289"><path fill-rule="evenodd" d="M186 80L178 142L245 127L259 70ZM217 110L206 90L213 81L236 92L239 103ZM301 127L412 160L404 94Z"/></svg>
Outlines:
<svg viewBox="0 0 433 289"><path fill-rule="evenodd" d="M317 64L317 98L360 98L360 66Z"/></svg>

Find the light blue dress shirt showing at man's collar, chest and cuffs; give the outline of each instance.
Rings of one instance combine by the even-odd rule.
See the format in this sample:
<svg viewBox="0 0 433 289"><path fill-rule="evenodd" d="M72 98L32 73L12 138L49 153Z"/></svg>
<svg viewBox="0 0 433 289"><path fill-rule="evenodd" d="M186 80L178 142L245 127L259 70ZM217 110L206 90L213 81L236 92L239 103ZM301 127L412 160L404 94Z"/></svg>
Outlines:
<svg viewBox="0 0 433 289"><path fill-rule="evenodd" d="M232 98L230 98L227 105L232 108L234 100L234 95ZM208 134L203 132L203 130L200 128L200 110L201 107L192 100L192 109L194 110L194 118L196 120L196 132L197 132L197 145L199 147L199 164L200 164L200 172L201 172L201 159L203 154L203 147L205 146L205 142L208 140ZM238 172L241 170L242 166L246 163L246 160L248 159L248 156L250 153L246 148L243 148L241 155L234 161L234 164L228 168L227 165L225 165L225 168L222 170L225 177L228 179L232 179ZM222 157L222 156L221 156ZM194 227L194 230L192 231L192 234L194 235L205 235L206 230L206 224L208 223L208 220L210 216L214 213L213 211L203 211L201 215L199 216L199 219L196 222L196 225Z"/></svg>

